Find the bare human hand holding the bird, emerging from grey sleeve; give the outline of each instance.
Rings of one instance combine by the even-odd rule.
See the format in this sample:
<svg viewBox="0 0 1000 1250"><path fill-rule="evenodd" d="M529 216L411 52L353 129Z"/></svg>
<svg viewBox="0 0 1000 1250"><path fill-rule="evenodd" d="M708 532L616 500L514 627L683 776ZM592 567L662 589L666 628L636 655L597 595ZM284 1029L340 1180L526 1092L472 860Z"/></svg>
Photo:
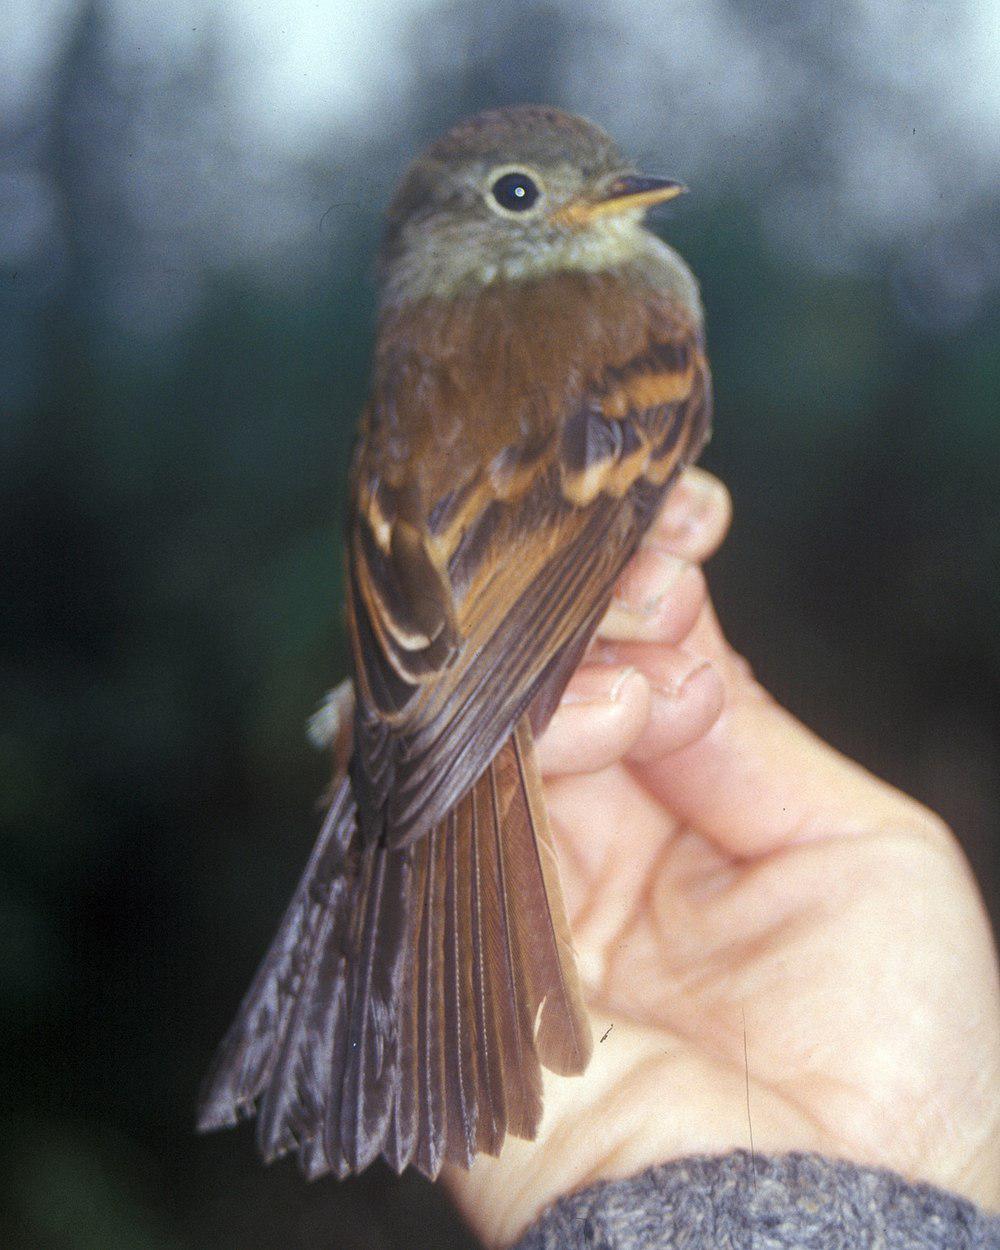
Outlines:
<svg viewBox="0 0 1000 1250"><path fill-rule="evenodd" d="M539 742L595 1032L532 1142L446 1182L488 1244L549 1202L751 1144L1000 1204L1000 991L942 822L779 708L698 564L689 470ZM668 585L669 584L669 585ZM749 1109L749 1114L748 1114Z"/></svg>

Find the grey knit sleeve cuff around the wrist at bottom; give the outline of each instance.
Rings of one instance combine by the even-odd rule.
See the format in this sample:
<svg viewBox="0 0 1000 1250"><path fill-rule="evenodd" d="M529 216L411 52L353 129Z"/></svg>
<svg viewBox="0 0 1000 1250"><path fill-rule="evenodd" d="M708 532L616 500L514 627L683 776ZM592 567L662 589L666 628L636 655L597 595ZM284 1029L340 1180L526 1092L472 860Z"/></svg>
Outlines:
<svg viewBox="0 0 1000 1250"><path fill-rule="evenodd" d="M560 1199L515 1250L1000 1250L1000 1216L819 1155L680 1159Z"/></svg>

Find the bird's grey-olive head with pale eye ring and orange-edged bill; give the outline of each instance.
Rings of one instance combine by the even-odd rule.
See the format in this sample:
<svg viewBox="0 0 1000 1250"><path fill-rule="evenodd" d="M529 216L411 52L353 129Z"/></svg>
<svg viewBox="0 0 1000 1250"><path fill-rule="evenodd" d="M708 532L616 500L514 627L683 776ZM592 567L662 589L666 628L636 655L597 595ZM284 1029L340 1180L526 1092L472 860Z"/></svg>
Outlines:
<svg viewBox="0 0 1000 1250"><path fill-rule="evenodd" d="M646 210L684 188L638 174L599 126L559 109L480 112L408 170L389 211L384 298L450 298L498 280L625 264Z"/></svg>

